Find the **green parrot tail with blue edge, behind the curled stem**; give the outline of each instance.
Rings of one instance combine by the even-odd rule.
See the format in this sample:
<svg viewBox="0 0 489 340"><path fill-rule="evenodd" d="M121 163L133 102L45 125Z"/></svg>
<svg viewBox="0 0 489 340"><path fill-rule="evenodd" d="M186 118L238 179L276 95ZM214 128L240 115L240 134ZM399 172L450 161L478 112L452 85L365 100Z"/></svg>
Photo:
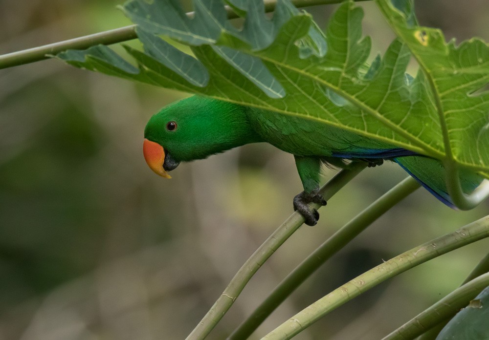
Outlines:
<svg viewBox="0 0 489 340"><path fill-rule="evenodd" d="M440 161L425 156L403 156L392 160L413 176L420 184L436 198L453 209L453 203L445 183L445 168ZM483 177L470 170L460 170L462 190L469 194L483 181Z"/></svg>

